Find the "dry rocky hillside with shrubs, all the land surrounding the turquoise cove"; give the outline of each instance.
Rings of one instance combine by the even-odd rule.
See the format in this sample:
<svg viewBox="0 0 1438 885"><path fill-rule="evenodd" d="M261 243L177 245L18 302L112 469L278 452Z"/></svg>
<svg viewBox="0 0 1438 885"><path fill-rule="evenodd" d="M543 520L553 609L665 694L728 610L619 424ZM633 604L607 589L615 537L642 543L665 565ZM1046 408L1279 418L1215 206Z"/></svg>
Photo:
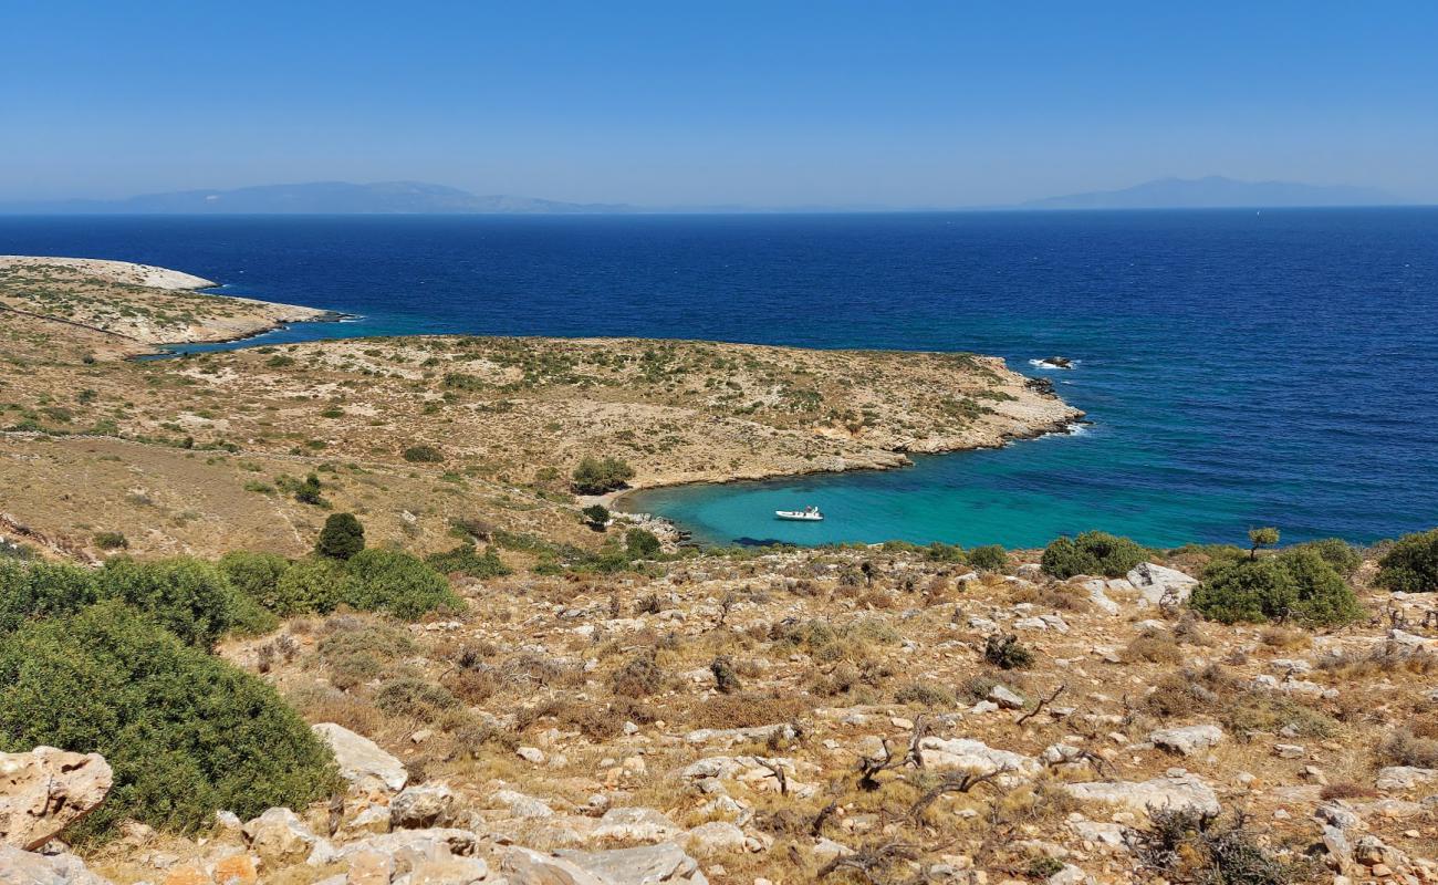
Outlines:
<svg viewBox="0 0 1438 885"><path fill-rule="evenodd" d="M137 318L269 309L154 283L194 281L0 273L36 308L0 309L3 882L1438 882L1438 532L682 548L575 468L887 468L1080 413L971 354L124 358Z"/></svg>

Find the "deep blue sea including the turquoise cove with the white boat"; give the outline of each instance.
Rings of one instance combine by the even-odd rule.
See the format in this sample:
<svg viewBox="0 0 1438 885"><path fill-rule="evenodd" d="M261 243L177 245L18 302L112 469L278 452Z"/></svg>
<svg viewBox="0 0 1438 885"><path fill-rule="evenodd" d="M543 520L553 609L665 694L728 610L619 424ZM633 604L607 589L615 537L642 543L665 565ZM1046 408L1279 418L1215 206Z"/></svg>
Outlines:
<svg viewBox="0 0 1438 885"><path fill-rule="evenodd" d="M0 253L358 314L267 335L643 335L999 354L1093 422L912 469L637 495L707 541L1373 541L1438 525L1438 209L3 217ZM821 507L823 524L775 522Z"/></svg>

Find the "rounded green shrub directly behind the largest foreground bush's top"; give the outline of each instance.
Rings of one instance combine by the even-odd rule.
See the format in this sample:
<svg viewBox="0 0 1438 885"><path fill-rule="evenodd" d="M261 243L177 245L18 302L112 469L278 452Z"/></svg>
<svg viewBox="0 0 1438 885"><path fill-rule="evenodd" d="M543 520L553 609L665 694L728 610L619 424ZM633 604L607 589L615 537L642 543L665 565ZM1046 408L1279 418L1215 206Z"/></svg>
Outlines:
<svg viewBox="0 0 1438 885"><path fill-rule="evenodd" d="M240 620L242 600L210 563L174 557L139 563L119 557L99 570L99 594L125 602L184 642L210 648Z"/></svg>

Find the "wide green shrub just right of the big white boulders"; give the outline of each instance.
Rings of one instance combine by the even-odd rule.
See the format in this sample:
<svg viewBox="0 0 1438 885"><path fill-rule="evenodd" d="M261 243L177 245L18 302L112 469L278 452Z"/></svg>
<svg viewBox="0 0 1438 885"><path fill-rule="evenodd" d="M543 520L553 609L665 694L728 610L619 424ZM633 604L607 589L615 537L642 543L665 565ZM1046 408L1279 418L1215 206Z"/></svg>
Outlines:
<svg viewBox="0 0 1438 885"><path fill-rule="evenodd" d="M1363 613L1343 577L1313 550L1214 563L1194 589L1189 606L1224 623L1293 619L1329 626L1347 623Z"/></svg>

